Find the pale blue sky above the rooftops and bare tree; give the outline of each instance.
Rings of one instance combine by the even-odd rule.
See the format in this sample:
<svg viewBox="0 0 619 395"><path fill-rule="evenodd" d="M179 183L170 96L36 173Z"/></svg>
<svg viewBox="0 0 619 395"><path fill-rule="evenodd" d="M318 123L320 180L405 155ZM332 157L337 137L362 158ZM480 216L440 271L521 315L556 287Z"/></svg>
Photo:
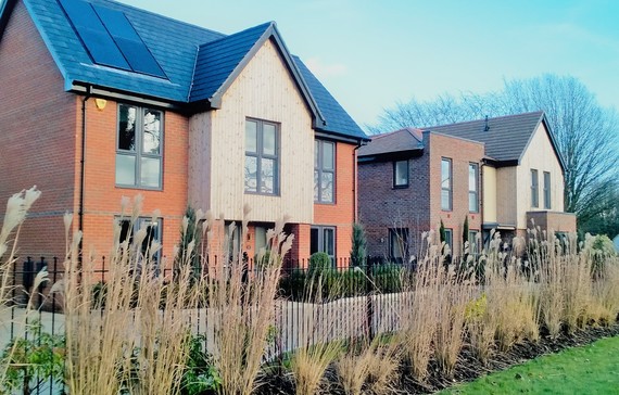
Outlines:
<svg viewBox="0 0 619 395"><path fill-rule="evenodd" d="M365 129L396 102L484 93L544 73L619 111L616 0L121 0L232 34L275 21Z"/></svg>

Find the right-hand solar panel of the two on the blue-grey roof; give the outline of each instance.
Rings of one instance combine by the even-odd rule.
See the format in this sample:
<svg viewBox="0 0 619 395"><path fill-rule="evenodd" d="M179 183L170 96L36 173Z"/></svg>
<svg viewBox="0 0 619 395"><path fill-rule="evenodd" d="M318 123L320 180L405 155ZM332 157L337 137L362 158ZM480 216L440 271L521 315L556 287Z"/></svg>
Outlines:
<svg viewBox="0 0 619 395"><path fill-rule="evenodd" d="M166 77L124 13L96 4L92 7L135 72Z"/></svg>

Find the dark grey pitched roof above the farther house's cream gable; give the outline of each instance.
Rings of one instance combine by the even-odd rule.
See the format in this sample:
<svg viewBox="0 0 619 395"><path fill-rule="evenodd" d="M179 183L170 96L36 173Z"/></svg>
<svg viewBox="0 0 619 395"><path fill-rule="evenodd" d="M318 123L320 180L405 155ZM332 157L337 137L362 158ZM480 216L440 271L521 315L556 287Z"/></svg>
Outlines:
<svg viewBox="0 0 619 395"><path fill-rule="evenodd" d="M519 163L520 157L529 145L529 141L533 137L533 132L542 122L545 123L544 113L536 111L488 118L488 122L485 119L476 119L422 129L483 142L485 144L485 154L493 160L497 162L516 161ZM548 130L552 139L547 123L546 130Z"/></svg>

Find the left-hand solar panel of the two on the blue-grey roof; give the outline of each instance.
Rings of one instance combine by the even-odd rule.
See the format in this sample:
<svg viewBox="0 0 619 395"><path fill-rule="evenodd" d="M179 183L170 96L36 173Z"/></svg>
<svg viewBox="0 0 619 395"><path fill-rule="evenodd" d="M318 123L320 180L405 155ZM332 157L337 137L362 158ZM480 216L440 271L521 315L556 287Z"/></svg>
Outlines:
<svg viewBox="0 0 619 395"><path fill-rule="evenodd" d="M89 3L77 0L60 0L60 3L94 63L131 69Z"/></svg>

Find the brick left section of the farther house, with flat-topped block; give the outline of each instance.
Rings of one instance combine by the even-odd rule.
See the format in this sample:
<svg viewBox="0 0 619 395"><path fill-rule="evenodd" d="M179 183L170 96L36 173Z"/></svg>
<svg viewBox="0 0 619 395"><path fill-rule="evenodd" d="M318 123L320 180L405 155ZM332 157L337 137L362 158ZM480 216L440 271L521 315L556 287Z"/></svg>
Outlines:
<svg viewBox="0 0 619 395"><path fill-rule="evenodd" d="M409 259L421 233L442 221L445 242L462 249L482 229L480 168L484 144L431 130L405 128L378 135L359 149L359 221L374 256Z"/></svg>

